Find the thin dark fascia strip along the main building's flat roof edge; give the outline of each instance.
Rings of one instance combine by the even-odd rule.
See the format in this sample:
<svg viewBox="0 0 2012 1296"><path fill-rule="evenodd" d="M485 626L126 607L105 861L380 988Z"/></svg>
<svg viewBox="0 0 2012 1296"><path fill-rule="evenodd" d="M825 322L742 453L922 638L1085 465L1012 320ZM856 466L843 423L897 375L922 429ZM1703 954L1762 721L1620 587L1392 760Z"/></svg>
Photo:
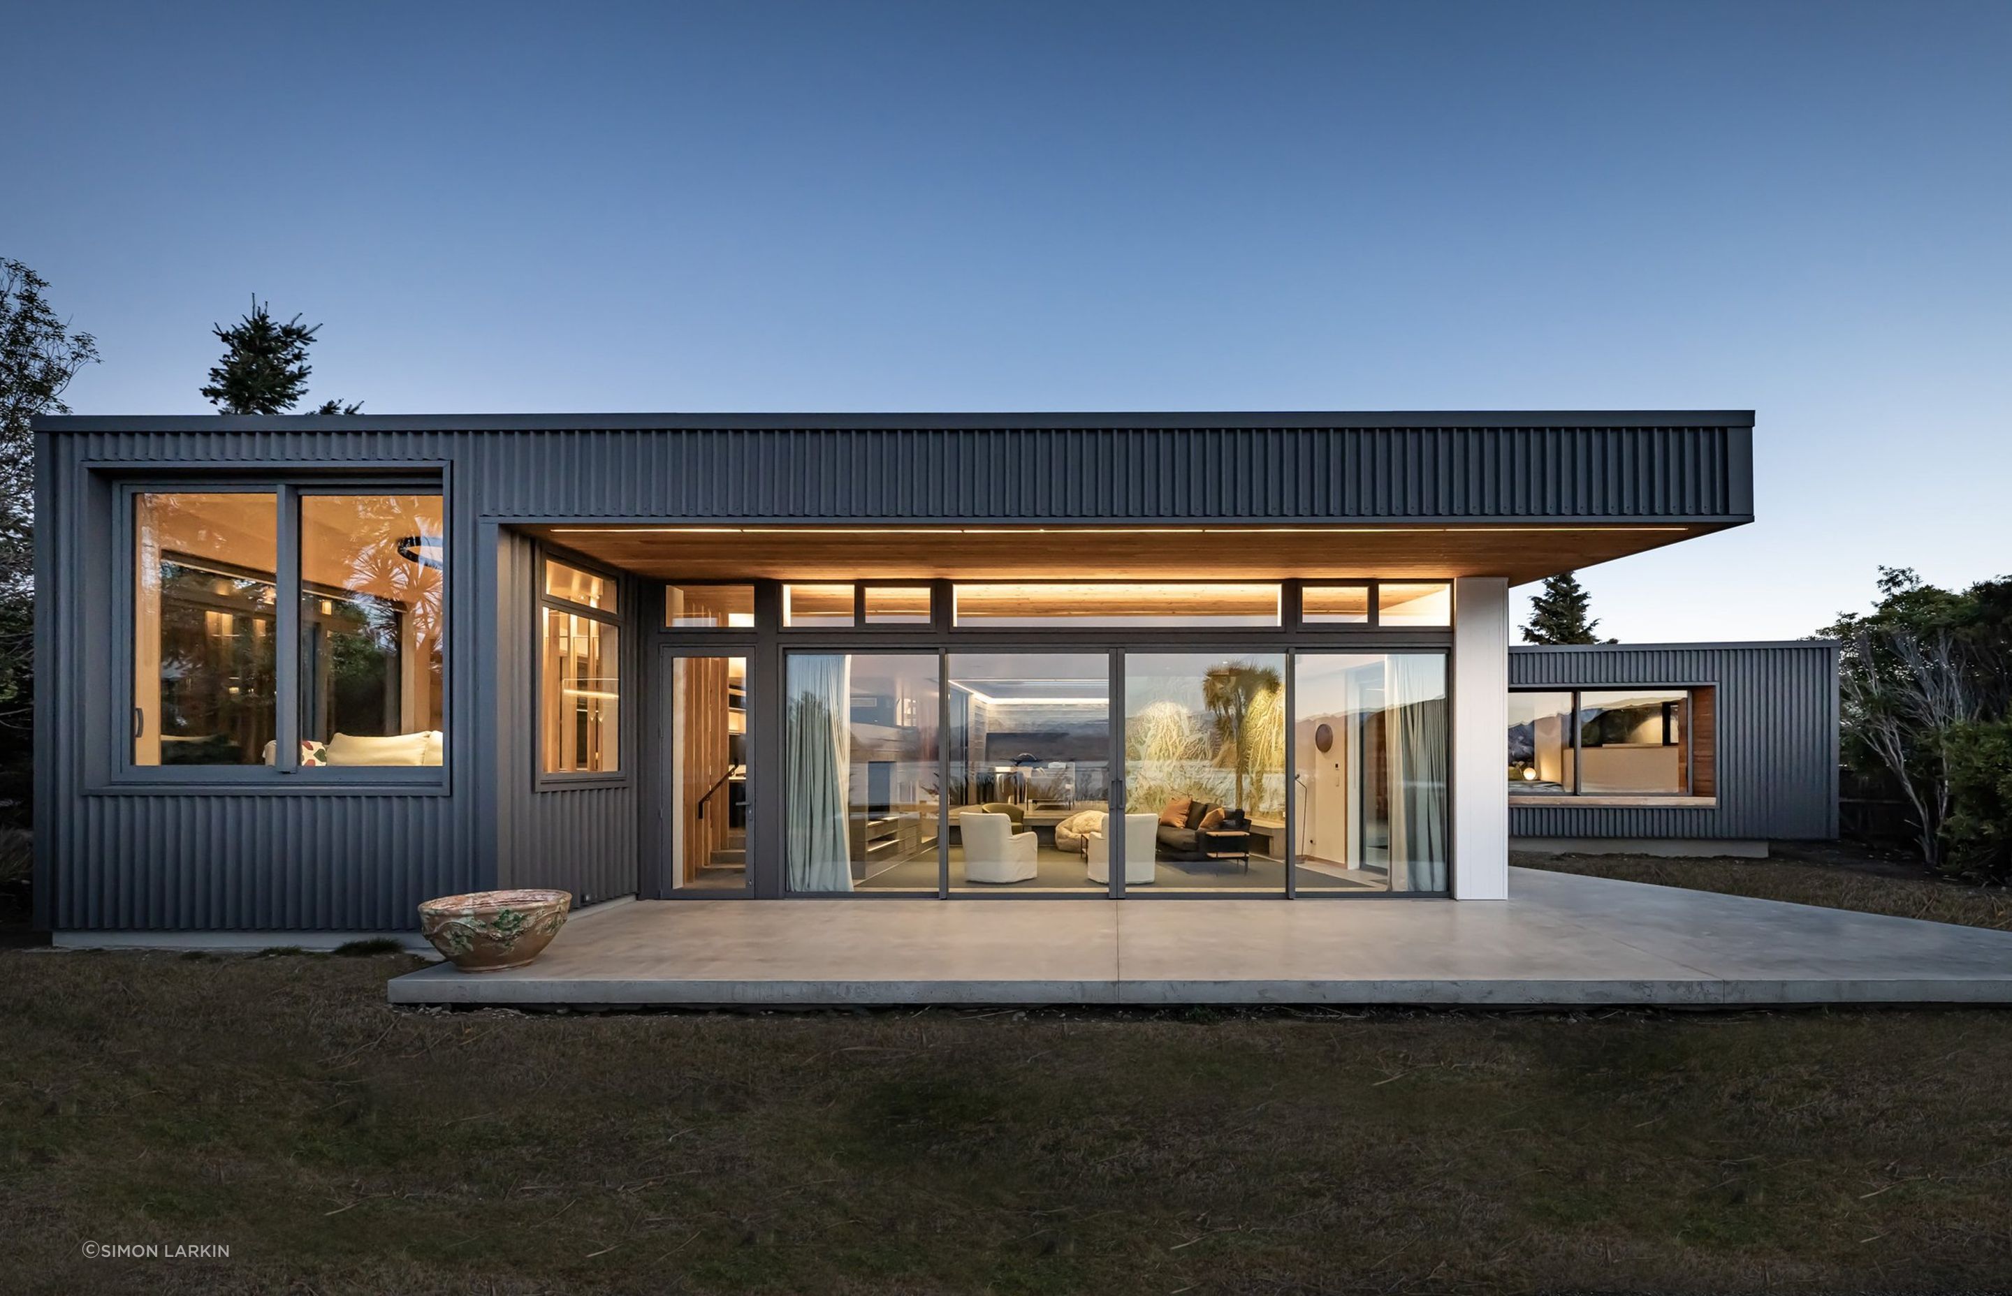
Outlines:
<svg viewBox="0 0 2012 1296"><path fill-rule="evenodd" d="M38 433L567 433L1034 429L1654 429L1752 427L1752 411L1173 411L962 415L42 415Z"/></svg>

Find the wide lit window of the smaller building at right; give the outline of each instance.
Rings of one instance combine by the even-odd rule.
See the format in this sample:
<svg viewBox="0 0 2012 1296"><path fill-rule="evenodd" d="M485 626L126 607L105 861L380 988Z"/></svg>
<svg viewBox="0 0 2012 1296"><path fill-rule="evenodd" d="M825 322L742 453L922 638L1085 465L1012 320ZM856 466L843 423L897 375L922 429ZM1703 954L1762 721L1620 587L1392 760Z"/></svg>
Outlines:
<svg viewBox="0 0 2012 1296"><path fill-rule="evenodd" d="M1714 688L1509 694L1509 791L1579 797L1712 795Z"/></svg>

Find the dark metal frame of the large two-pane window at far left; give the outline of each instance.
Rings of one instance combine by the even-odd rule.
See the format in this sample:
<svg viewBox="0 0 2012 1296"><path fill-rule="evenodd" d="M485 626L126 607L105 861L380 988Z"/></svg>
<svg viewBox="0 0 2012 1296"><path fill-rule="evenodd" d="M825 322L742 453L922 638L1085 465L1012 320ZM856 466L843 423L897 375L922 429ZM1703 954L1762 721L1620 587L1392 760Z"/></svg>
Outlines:
<svg viewBox="0 0 2012 1296"><path fill-rule="evenodd" d="M274 495L274 763L272 765L139 765L133 759L133 662L139 650L139 527L141 495ZM304 495L439 495L441 497L441 608L449 650L441 660L441 765L300 765L300 501ZM113 491L113 545L119 594L113 602L115 682L111 779L107 789L243 793L410 793L449 795L453 787L457 638L453 576L453 489L445 465L400 467L386 473L243 473L243 475L145 475L121 479ZM298 775L310 769L306 779Z"/></svg>

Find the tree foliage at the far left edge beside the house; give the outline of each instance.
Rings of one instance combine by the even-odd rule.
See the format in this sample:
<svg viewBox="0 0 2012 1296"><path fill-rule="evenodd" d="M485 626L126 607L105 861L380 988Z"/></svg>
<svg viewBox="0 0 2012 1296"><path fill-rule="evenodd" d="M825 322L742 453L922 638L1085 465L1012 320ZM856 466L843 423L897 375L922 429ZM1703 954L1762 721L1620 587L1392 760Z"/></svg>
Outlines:
<svg viewBox="0 0 2012 1296"><path fill-rule="evenodd" d="M68 415L62 392L99 346L70 332L48 282L0 258L0 817L26 821L34 735L34 433L36 415Z"/></svg>

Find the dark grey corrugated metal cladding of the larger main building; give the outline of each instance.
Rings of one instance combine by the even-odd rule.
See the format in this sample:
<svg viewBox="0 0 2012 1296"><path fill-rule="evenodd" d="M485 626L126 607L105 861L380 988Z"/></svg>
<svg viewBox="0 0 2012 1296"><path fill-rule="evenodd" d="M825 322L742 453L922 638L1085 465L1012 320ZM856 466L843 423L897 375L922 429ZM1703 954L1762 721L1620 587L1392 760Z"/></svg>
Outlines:
<svg viewBox="0 0 2012 1296"><path fill-rule="evenodd" d="M137 785L117 483L443 473L447 783ZM1686 521L1752 517L1752 415L457 415L36 423L36 906L89 928L410 928L507 881L634 892L650 600L624 775L537 779L535 549L511 521Z"/></svg>

